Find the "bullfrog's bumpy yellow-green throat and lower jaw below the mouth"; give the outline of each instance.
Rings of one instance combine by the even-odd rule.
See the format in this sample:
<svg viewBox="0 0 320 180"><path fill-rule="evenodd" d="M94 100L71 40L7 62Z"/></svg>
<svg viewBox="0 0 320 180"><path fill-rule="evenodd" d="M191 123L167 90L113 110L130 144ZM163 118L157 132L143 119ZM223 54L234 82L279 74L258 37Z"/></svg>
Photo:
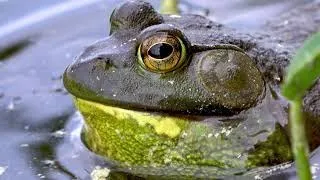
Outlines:
<svg viewBox="0 0 320 180"><path fill-rule="evenodd" d="M270 165L279 158L283 162L291 159L287 139L278 127L265 142L258 142L239 130L239 124L231 125L231 133L232 128L216 128L208 122L135 112L79 98L75 104L85 118L87 146L121 167L165 168L164 174L170 169L190 176L202 170L204 175L231 175Z"/></svg>

